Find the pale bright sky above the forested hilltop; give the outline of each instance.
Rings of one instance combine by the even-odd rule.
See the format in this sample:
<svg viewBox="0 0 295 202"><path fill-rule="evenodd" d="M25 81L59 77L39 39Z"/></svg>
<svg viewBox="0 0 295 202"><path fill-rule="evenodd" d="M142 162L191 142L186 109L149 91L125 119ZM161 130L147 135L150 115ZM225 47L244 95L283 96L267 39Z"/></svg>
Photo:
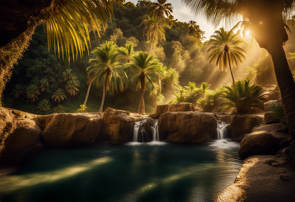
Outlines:
<svg viewBox="0 0 295 202"><path fill-rule="evenodd" d="M134 3L134 5L137 4L137 0L125 0L125 2L131 1ZM151 0L154 2L155 0ZM189 22L190 20L194 20L197 22L197 25L200 26L200 29L202 31L205 31L205 40L209 40L210 36L213 35L214 31L217 30L218 28L214 28L213 25L210 23L207 23L207 20L203 17L200 16L195 16L191 11L186 7L181 4L181 1L178 0L168 0L168 3L172 4L173 7L173 13L172 15L174 16L174 19L178 19L178 21L181 22Z"/></svg>

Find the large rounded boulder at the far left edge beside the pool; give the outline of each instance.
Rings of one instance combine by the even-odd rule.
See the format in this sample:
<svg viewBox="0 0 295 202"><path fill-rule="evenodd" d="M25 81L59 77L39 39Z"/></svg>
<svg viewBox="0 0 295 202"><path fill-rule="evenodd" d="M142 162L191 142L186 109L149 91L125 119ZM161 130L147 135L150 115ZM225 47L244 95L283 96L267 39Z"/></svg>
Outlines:
<svg viewBox="0 0 295 202"><path fill-rule="evenodd" d="M0 163L18 164L42 148L42 130L34 120L18 118L12 110L0 107Z"/></svg>

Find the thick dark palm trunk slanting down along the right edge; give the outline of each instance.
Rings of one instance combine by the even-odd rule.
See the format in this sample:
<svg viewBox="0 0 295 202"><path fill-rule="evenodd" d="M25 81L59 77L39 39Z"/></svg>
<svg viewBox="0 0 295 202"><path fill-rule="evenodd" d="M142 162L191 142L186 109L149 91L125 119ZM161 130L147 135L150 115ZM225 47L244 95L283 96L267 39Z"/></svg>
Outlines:
<svg viewBox="0 0 295 202"><path fill-rule="evenodd" d="M295 139L295 82L282 42L271 42L268 52L271 55L278 87L281 91L289 134L292 136L292 139Z"/></svg>

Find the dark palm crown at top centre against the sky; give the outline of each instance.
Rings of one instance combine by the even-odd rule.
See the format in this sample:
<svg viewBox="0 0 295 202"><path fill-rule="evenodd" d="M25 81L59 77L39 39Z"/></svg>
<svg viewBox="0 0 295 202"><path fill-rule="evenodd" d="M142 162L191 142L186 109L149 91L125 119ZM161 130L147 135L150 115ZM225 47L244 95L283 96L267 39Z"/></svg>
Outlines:
<svg viewBox="0 0 295 202"><path fill-rule="evenodd" d="M153 3L150 8L150 16L164 17L164 14L168 17L173 12L173 7L171 4L167 3L167 0L157 0Z"/></svg>

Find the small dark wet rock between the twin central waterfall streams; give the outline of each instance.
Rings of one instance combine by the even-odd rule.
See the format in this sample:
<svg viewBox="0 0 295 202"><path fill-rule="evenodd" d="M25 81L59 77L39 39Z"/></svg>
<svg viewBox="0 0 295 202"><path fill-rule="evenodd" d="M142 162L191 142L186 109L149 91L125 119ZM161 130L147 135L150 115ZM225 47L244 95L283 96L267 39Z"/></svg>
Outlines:
<svg viewBox="0 0 295 202"><path fill-rule="evenodd" d="M138 141L148 142L153 140L153 132L151 126L153 126L157 121L152 118L148 118L140 124L138 128Z"/></svg>

